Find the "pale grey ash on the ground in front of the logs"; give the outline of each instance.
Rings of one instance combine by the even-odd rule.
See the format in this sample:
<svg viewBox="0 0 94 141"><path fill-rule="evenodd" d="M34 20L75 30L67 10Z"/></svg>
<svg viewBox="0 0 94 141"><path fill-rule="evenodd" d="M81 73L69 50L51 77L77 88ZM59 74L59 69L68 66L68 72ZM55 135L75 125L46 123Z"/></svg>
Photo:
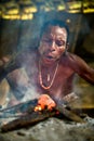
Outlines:
<svg viewBox="0 0 94 141"><path fill-rule="evenodd" d="M44 121L6 133L0 141L94 141L94 119L84 117L85 124L51 117Z"/></svg>

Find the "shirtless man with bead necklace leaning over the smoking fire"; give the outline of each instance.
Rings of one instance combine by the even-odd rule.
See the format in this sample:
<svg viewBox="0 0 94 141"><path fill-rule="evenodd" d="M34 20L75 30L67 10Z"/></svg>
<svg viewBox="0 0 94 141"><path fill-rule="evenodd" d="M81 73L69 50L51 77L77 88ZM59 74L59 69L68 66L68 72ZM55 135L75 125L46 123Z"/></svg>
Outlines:
<svg viewBox="0 0 94 141"><path fill-rule="evenodd" d="M94 85L94 69L67 51L68 36L64 22L48 22L41 29L38 50L25 51L3 67L1 76L6 76L15 100L37 97L40 105L52 108L55 106L52 99L68 100L76 97L72 94L75 74ZM11 102L15 103L13 100Z"/></svg>

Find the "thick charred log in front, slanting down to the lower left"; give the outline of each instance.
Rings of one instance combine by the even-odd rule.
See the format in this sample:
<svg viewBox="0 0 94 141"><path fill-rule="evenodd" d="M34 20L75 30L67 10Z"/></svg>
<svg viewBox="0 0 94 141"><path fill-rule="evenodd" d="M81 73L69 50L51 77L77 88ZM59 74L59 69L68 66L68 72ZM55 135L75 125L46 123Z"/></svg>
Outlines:
<svg viewBox="0 0 94 141"><path fill-rule="evenodd" d="M12 131L15 129L19 129L27 126L32 126L41 120L44 120L49 117L52 117L56 115L56 112L33 112L32 114L27 114L26 116L23 116L22 118L12 120L1 127L2 132Z"/></svg>

